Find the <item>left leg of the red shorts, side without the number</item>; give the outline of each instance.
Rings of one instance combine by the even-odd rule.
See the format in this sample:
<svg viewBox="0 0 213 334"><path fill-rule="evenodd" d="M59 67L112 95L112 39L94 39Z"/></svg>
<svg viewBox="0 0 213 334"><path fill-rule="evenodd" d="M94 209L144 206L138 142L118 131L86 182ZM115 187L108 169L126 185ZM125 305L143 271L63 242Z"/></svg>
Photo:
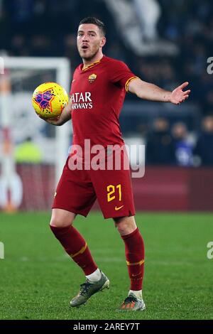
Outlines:
<svg viewBox="0 0 213 334"><path fill-rule="evenodd" d="M72 171L66 163L55 191L52 208L86 217L95 200L96 195L88 171Z"/></svg>

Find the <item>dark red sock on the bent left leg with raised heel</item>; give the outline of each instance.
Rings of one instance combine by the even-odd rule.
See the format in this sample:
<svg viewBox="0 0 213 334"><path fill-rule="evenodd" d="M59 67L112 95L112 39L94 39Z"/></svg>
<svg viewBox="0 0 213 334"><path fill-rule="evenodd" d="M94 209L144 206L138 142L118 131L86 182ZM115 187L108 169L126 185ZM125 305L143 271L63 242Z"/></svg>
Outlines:
<svg viewBox="0 0 213 334"><path fill-rule="evenodd" d="M67 254L72 257L84 271L85 275L92 274L97 269L92 255L87 247L87 242L72 225L67 227L55 227L50 225L55 237L60 241Z"/></svg>

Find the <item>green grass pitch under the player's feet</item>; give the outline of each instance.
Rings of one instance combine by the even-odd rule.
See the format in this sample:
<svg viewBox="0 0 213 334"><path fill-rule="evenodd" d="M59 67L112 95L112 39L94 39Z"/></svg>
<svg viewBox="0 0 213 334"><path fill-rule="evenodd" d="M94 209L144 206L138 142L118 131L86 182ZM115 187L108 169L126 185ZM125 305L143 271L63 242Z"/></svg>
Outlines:
<svg viewBox="0 0 213 334"><path fill-rule="evenodd" d="M78 216L75 227L87 239L110 289L70 308L84 275L64 254L48 227L50 213L0 214L1 319L213 319L213 241L210 213L140 213L138 227L146 244L143 297L146 311L119 312L129 279L124 244L112 220L92 212Z"/></svg>

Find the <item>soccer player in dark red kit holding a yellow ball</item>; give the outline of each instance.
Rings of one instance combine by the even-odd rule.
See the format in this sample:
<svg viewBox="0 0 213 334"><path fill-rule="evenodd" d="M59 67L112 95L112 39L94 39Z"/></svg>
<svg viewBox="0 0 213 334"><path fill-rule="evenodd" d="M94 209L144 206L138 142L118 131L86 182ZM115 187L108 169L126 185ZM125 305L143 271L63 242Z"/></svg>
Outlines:
<svg viewBox="0 0 213 334"><path fill-rule="evenodd" d="M97 198L104 218L114 220L124 240L130 289L120 309L144 310L144 244L134 219L130 172L122 167L116 170L114 165L112 170L88 168L84 142L89 139L91 147L102 145L106 151L109 144L124 146L119 114L126 92L136 94L141 99L180 104L187 99L190 90L183 91L188 82L173 92L144 82L121 61L103 55L105 43L104 23L94 17L84 18L77 31L77 49L82 64L73 74L70 102L59 119L46 120L53 125L62 125L72 116L73 144L82 147L80 164L84 166L72 170L70 159L72 162L74 152L67 158L53 201L50 228L86 276L79 293L70 302L73 307L80 306L94 293L109 287L109 279L94 262L87 242L72 226L76 215L87 216ZM121 153L122 161L124 156L125 153Z"/></svg>

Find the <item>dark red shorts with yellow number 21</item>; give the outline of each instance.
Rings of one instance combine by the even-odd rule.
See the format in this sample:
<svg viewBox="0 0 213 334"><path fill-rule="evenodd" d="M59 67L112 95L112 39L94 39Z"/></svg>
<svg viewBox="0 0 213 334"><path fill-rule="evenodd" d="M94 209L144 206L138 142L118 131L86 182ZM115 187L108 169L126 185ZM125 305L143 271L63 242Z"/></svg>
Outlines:
<svg viewBox="0 0 213 334"><path fill-rule="evenodd" d="M104 218L135 215L129 169L71 170L69 158L62 171L52 208L87 217L97 199Z"/></svg>

